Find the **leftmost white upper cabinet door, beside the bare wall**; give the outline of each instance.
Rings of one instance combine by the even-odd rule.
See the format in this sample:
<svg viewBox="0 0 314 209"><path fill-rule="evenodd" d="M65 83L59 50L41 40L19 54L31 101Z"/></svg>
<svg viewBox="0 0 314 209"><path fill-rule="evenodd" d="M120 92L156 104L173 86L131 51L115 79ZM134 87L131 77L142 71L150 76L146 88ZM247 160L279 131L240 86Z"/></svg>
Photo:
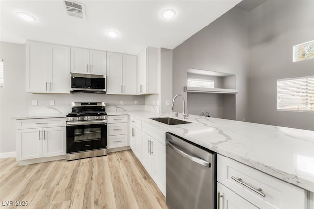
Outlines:
<svg viewBox="0 0 314 209"><path fill-rule="evenodd" d="M49 83L49 44L26 42L26 92L46 93Z"/></svg>

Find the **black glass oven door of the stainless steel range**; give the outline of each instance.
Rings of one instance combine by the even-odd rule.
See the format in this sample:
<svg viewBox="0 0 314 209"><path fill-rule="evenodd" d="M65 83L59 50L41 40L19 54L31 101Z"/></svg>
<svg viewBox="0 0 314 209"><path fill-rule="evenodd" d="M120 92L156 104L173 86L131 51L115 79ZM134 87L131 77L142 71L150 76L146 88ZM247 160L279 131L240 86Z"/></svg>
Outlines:
<svg viewBox="0 0 314 209"><path fill-rule="evenodd" d="M107 124L67 124L67 154L107 148Z"/></svg>

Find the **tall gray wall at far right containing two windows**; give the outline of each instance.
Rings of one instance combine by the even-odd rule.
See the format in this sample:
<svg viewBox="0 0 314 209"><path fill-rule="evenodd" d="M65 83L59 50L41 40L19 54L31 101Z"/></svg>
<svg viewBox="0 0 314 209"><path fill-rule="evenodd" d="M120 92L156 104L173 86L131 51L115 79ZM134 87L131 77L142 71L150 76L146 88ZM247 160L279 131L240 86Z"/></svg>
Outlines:
<svg viewBox="0 0 314 209"><path fill-rule="evenodd" d="M266 1L249 12L250 121L314 130L314 113L277 111L276 80L314 75L314 59L292 62L292 46L314 40L314 1Z"/></svg>

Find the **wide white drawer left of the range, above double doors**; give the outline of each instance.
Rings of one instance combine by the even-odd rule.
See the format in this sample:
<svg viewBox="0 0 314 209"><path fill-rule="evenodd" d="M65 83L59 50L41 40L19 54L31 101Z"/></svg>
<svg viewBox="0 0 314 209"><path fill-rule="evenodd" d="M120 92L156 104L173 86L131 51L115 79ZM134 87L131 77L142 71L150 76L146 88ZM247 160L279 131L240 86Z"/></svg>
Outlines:
<svg viewBox="0 0 314 209"><path fill-rule="evenodd" d="M41 118L16 120L16 129L65 126L65 118Z"/></svg>

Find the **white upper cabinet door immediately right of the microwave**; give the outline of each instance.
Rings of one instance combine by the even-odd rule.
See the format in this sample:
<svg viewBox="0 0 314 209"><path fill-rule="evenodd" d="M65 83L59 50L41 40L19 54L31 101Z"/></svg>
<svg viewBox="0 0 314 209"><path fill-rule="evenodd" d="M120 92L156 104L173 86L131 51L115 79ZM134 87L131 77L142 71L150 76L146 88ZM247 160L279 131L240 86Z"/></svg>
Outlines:
<svg viewBox="0 0 314 209"><path fill-rule="evenodd" d="M120 53L107 52L107 94L123 94Z"/></svg>

